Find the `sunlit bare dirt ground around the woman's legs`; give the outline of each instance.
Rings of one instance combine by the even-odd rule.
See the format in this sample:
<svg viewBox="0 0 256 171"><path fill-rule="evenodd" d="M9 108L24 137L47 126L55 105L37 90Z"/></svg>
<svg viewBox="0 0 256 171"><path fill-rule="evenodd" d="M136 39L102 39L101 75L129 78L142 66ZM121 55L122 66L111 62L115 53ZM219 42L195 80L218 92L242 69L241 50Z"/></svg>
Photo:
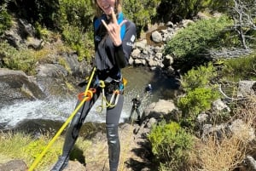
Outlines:
<svg viewBox="0 0 256 171"><path fill-rule="evenodd" d="M147 129L139 125L125 123L119 128L121 153L119 171L154 171L150 162L152 154L146 139ZM85 161L69 161L64 171L109 171L108 144L106 134L98 133L86 154ZM83 163L84 162L84 163Z"/></svg>

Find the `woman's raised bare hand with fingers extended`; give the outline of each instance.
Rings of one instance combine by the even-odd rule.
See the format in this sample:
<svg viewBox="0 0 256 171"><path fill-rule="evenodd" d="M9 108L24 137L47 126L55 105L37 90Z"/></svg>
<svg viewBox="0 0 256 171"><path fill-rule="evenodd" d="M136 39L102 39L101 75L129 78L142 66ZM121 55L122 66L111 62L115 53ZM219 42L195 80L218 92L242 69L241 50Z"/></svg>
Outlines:
<svg viewBox="0 0 256 171"><path fill-rule="evenodd" d="M111 15L112 15L112 21L110 23L106 23L105 20L102 20L103 25L106 27L109 36L111 37L113 41L114 46L119 46L122 44L121 36L120 36L120 30L121 26L125 24L126 20L123 20L120 24L118 23L116 19L116 15L114 14L113 8L110 8Z"/></svg>

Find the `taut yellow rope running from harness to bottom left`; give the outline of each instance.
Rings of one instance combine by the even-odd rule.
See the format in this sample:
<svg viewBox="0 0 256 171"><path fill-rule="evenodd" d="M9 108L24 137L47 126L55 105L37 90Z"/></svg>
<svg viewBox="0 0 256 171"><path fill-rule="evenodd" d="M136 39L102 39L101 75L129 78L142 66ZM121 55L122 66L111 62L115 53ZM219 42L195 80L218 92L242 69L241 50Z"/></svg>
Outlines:
<svg viewBox="0 0 256 171"><path fill-rule="evenodd" d="M87 84L86 89L84 90L84 94L86 94L86 92L88 91L88 89L90 88L90 83L92 78L94 77L94 73L96 71L96 68L93 68L93 71L90 75L90 80L89 83ZM44 157L44 154L48 151L49 147L51 145L53 145L53 143L55 142L55 140L61 135L62 131L64 130L64 128L67 127L67 124L70 123L70 121L73 119L73 117L75 116L75 114L79 111L80 107L82 105L84 105L84 102L88 99L88 97L85 97L80 103L79 105L76 107L76 109L73 111L73 113L70 115L70 117L67 118L67 121L65 123L63 123L63 125L61 126L61 128L59 129L59 131L55 134L54 138L52 140L49 141L49 144L45 147L44 151L41 152L41 154L36 158L36 160L32 163L32 166L28 169L28 171L32 171L34 168L37 167L38 163L41 161L41 159Z"/></svg>

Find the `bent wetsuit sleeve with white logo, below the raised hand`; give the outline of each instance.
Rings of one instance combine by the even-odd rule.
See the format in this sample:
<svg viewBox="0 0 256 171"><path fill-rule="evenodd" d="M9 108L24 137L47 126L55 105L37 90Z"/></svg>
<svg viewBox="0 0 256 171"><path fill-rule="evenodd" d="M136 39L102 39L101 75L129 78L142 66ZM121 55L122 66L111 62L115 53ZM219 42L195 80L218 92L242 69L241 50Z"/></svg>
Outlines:
<svg viewBox="0 0 256 171"><path fill-rule="evenodd" d="M136 38L136 26L133 22L127 21L125 23L125 37L122 44L115 47L115 60L119 68L124 68L129 63L132 45Z"/></svg>

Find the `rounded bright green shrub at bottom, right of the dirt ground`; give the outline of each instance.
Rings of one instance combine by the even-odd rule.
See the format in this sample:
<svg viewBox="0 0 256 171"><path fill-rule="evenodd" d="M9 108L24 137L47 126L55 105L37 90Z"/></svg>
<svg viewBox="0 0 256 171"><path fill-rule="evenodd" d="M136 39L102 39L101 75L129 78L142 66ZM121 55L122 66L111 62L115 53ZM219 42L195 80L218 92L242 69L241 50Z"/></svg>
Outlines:
<svg viewBox="0 0 256 171"><path fill-rule="evenodd" d="M192 136L174 122L166 124L162 121L155 125L148 134L148 140L154 156L161 163L161 168L173 171L181 170L193 146Z"/></svg>

